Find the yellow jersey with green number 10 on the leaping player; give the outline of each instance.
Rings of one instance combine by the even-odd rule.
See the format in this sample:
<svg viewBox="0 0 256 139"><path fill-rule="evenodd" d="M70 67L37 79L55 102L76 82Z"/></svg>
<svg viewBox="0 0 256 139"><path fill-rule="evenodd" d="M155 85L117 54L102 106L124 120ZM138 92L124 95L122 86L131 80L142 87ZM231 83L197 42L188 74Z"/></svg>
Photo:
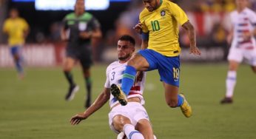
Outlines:
<svg viewBox="0 0 256 139"><path fill-rule="evenodd" d="M149 12L144 8L140 14L142 31L149 33L148 49L169 57L181 52L178 43L178 27L189 21L186 13L169 0L160 0L158 9Z"/></svg>

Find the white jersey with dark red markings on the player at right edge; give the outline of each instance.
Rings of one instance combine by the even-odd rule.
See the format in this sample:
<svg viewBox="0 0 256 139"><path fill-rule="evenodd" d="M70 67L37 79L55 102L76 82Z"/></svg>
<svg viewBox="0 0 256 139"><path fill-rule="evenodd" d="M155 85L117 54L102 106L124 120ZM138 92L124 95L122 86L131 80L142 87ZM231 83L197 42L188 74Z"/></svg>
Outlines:
<svg viewBox="0 0 256 139"><path fill-rule="evenodd" d="M238 13L237 10L230 13L234 35L232 47L239 47L247 50L256 49L255 38L252 36L249 40L243 39L243 33L252 33L256 27L256 14L253 10L245 8Z"/></svg>

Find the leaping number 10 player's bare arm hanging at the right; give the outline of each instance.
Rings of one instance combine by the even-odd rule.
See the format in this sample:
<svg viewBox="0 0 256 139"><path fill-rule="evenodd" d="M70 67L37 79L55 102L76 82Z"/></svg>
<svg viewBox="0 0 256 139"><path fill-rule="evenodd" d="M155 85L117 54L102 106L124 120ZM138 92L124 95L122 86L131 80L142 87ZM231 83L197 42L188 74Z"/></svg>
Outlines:
<svg viewBox="0 0 256 139"><path fill-rule="evenodd" d="M189 35L189 41L190 41L190 53L193 53L195 55L201 55L201 51L196 47L196 38L195 38L195 28L193 25L186 21L182 25L183 29L186 30L186 33Z"/></svg>

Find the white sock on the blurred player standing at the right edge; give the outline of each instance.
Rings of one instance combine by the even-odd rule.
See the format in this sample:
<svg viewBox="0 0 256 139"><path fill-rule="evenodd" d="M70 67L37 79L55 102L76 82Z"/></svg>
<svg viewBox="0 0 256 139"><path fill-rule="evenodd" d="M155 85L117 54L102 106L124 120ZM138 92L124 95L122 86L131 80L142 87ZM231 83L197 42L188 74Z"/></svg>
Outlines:
<svg viewBox="0 0 256 139"><path fill-rule="evenodd" d="M227 98L232 98L236 82L237 82L237 72L229 71L226 77L226 97Z"/></svg>

